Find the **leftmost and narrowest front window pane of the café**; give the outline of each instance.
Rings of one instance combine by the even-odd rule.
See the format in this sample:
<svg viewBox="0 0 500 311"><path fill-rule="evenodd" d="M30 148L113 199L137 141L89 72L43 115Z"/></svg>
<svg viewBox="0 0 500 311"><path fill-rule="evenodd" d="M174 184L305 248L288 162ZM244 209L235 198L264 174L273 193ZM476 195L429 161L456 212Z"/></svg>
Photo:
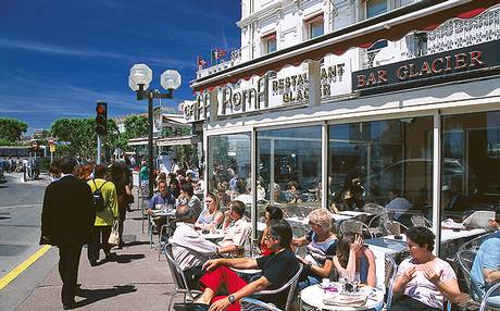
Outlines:
<svg viewBox="0 0 500 311"><path fill-rule="evenodd" d="M209 192L218 196L222 207L230 200L240 200L248 207L252 202L250 137L250 133L209 136Z"/></svg>

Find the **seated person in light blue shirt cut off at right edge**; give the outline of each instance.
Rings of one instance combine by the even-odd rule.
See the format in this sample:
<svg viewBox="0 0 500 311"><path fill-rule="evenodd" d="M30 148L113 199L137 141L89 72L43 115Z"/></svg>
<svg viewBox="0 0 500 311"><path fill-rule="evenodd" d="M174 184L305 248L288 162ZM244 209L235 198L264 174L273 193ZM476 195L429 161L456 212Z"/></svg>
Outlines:
<svg viewBox="0 0 500 311"><path fill-rule="evenodd" d="M500 233L491 234L479 247L471 271L473 288L483 300L488 288L500 282ZM491 303L500 307L500 296L495 296ZM489 301L489 300L488 300Z"/></svg>

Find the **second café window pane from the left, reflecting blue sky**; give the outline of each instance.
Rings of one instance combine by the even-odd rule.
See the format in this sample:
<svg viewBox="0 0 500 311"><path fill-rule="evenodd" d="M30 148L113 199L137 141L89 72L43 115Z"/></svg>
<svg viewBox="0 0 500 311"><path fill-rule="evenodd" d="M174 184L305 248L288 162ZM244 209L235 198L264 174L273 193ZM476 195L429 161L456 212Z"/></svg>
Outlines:
<svg viewBox="0 0 500 311"><path fill-rule="evenodd" d="M282 208L291 221L321 207L321 126L261 130L257 137L258 216L266 204Z"/></svg>

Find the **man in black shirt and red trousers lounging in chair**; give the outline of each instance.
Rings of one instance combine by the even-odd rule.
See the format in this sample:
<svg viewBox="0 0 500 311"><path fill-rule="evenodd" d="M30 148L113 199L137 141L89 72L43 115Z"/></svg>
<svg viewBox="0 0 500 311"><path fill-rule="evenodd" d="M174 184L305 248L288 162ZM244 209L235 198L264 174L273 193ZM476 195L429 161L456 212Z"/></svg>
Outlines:
<svg viewBox="0 0 500 311"><path fill-rule="evenodd" d="M236 258L207 261L203 268L208 272L200 279L201 285L204 286L204 291L193 304L205 306L205 310L208 310L209 303L212 303L210 310L241 310L238 302L241 298L259 294L263 289L282 287L299 269L299 262L290 249L290 225L284 220L272 221L266 235L266 245L272 250L272 254L259 259ZM229 268L260 269L262 276L247 283ZM215 296L222 287L229 296ZM285 310L287 295L288 291L284 290L275 295L261 296L259 299L273 302L279 309ZM177 308L174 307L174 309Z"/></svg>

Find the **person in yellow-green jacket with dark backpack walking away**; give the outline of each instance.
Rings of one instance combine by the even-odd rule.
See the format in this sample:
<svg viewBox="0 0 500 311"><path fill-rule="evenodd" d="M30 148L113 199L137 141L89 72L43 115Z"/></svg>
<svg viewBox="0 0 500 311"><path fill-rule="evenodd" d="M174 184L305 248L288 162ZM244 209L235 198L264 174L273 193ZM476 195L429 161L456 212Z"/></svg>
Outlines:
<svg viewBox="0 0 500 311"><path fill-rule="evenodd" d="M93 169L93 179L87 182L92 190L100 189L104 202L104 210L96 213L93 223L92 240L88 245L87 256L91 266L96 266L99 260L99 251L105 254L105 260L111 259L111 246L108 242L114 220L118 217L118 200L114 184L104 179L108 169L104 165L97 165Z"/></svg>

